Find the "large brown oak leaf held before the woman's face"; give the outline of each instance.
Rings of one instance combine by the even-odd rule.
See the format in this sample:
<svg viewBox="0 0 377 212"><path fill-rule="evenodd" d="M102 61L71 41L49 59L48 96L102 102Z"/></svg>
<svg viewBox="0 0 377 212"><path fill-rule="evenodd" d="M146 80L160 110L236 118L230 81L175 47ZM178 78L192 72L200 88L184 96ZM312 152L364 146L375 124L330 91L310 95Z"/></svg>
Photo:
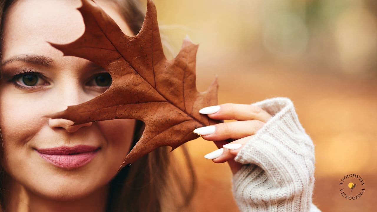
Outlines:
<svg viewBox="0 0 377 212"><path fill-rule="evenodd" d="M167 60L152 0L147 2L141 30L133 37L125 35L95 2L81 2L77 9L84 19L84 34L72 43L49 43L64 55L102 66L111 75L112 84L92 100L46 117L72 120L73 125L116 118L143 121L143 135L126 156L125 165L161 146L171 146L173 151L199 137L194 129L223 122L199 114L199 109L218 104L217 77L207 91L198 92L198 45L188 38L178 55Z"/></svg>

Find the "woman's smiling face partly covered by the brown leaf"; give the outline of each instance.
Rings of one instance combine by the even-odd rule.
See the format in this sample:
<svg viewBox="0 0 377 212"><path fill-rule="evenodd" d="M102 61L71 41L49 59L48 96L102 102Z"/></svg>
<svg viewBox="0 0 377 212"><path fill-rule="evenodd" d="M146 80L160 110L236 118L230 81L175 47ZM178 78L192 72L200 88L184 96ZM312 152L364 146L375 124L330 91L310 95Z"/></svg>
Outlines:
<svg viewBox="0 0 377 212"><path fill-rule="evenodd" d="M114 5L96 2L125 34L133 35ZM47 43L70 43L83 34L83 19L76 9L80 6L79 0L16 1L3 22L2 64L8 61L2 65L0 84L5 169L26 190L54 199L84 197L104 188L129 152L135 127L133 119L70 126L73 122L69 120L43 118L100 95L111 83L101 67L83 58L63 56ZM79 144L100 147L92 160L81 167L57 166L37 151ZM69 157L58 156L54 160L70 160ZM74 160L77 159L80 157L76 155Z"/></svg>

